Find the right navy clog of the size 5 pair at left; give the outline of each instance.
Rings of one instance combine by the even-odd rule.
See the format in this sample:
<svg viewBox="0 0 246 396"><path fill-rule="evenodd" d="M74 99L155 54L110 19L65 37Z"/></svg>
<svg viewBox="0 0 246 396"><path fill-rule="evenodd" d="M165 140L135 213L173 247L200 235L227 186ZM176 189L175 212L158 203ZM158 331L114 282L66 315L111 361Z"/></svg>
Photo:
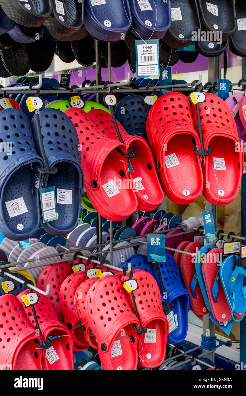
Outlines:
<svg viewBox="0 0 246 396"><path fill-rule="evenodd" d="M78 224L81 196L84 193L84 176L81 168L81 155L78 151L79 139L72 122L61 111L44 109L40 111L39 119L48 164L51 168L53 166L58 168L58 173L43 177L42 184L44 187L55 187L56 210L59 215L55 221L48 223L41 221L41 225L53 235L64 235L71 232ZM40 150L35 118L32 120L32 128L36 147ZM63 134L58 130L59 132L62 130ZM56 140L58 136L59 141ZM66 192L66 204L61 203L64 197L61 200L59 198L63 190ZM68 200L69 190L71 193L70 202Z"/></svg>

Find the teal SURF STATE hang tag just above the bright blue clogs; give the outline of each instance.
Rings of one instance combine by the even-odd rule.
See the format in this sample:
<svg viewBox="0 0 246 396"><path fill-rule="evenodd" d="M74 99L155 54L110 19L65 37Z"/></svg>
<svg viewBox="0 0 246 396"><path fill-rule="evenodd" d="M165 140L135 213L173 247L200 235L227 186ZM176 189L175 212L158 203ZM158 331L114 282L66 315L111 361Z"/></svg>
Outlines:
<svg viewBox="0 0 246 396"><path fill-rule="evenodd" d="M164 234L147 234L147 257L149 263L166 261Z"/></svg>

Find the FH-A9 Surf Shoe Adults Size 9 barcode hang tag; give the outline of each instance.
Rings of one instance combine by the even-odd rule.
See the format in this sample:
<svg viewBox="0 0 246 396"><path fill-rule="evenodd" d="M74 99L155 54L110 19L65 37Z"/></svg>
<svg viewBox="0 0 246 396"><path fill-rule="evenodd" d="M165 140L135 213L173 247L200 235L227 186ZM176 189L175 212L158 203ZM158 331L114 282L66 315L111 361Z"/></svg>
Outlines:
<svg viewBox="0 0 246 396"><path fill-rule="evenodd" d="M160 76L159 40L135 40L137 77Z"/></svg>

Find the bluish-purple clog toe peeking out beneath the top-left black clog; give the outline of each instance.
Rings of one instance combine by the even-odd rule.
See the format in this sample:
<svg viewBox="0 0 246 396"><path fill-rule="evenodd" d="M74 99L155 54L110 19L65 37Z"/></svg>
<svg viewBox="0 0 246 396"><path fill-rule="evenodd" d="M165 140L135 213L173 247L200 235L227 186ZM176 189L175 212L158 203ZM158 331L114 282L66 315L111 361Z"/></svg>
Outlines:
<svg viewBox="0 0 246 396"><path fill-rule="evenodd" d="M35 42L37 37L41 38L43 36L43 31L43 25L40 27L26 27L16 24L13 29L9 30L8 34L13 40L17 41L17 43L28 44Z"/></svg>

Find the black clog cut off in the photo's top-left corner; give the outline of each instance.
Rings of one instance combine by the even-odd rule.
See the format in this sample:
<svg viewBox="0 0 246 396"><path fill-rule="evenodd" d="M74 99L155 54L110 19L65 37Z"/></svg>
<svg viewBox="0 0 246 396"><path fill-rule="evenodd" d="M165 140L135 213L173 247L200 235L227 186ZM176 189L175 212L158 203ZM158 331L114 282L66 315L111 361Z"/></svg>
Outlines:
<svg viewBox="0 0 246 396"><path fill-rule="evenodd" d="M0 0L0 5L10 19L25 26L41 26L51 14L51 2L27 2L22 0Z"/></svg>

